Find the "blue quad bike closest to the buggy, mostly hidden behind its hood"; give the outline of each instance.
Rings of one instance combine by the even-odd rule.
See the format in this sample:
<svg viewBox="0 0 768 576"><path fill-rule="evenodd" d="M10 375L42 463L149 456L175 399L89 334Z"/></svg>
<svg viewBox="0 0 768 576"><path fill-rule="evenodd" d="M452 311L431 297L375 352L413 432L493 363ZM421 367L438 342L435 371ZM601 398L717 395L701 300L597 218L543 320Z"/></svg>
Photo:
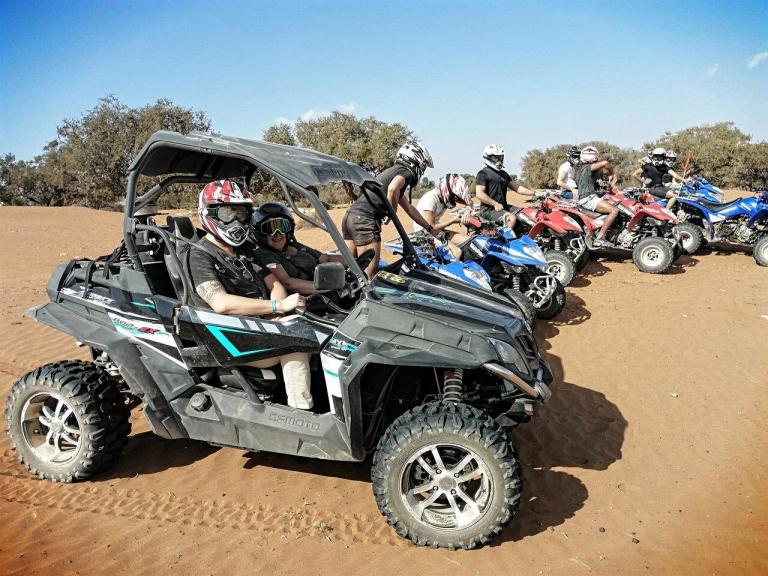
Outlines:
<svg viewBox="0 0 768 576"><path fill-rule="evenodd" d="M493 291L490 275L477 262L472 260L467 262L456 260L445 243L440 243L439 241L436 243L426 232L410 234L409 238L419 255L419 260L421 260L421 263L424 264L427 269L433 270L447 278L461 280L462 282L477 286L478 288L482 288L489 292ZM385 242L384 247L393 254L403 254L403 243L399 238ZM400 271L407 274L409 269L407 266L402 266ZM504 289L503 295L506 296L513 305L520 308L525 323L532 330L536 321L536 311L534 310L531 301L528 300L522 292L515 290L514 288Z"/></svg>

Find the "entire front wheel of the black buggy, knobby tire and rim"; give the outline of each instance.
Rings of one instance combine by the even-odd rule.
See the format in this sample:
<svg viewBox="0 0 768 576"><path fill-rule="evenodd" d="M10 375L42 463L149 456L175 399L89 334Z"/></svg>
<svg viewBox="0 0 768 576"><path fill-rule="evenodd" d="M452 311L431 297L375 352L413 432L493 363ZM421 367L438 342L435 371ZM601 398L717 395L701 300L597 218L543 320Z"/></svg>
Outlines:
<svg viewBox="0 0 768 576"><path fill-rule="evenodd" d="M435 548L490 542L514 518L523 489L504 430L477 408L449 402L418 406L392 422L371 478L379 511L397 534Z"/></svg>

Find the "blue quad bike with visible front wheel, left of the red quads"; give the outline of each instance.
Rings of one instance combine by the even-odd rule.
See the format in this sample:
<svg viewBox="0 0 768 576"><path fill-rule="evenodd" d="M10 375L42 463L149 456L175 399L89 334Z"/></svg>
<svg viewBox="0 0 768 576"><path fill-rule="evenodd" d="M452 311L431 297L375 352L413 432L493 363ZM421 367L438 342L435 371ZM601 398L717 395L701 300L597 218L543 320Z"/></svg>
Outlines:
<svg viewBox="0 0 768 576"><path fill-rule="evenodd" d="M548 320L557 316L565 307L565 288L547 272L550 264L539 245L528 236L516 238L505 228L484 228L475 224L475 228L480 226L480 233L473 235L463 247L460 264L476 263L488 278L493 292L505 294L510 299L517 299L522 293L533 307L536 318ZM387 246L392 251L396 249L393 245ZM456 261L447 248L443 254L449 257L446 262ZM473 271L478 268L465 267L463 270L470 270L474 275ZM456 269L458 267L452 270ZM451 270L446 272L451 273Z"/></svg>

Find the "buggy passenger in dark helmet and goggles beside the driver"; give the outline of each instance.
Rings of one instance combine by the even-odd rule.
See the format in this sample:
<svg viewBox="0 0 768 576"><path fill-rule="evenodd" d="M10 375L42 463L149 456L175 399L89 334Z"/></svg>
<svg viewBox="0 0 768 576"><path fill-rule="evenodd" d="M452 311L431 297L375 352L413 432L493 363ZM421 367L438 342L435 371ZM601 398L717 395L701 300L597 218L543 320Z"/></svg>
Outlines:
<svg viewBox="0 0 768 576"><path fill-rule="evenodd" d="M253 257L269 270L288 292L310 295L316 292L315 268L323 262L344 262L339 254L324 254L296 240L296 221L285 204L267 202L251 217L251 230L258 249Z"/></svg>

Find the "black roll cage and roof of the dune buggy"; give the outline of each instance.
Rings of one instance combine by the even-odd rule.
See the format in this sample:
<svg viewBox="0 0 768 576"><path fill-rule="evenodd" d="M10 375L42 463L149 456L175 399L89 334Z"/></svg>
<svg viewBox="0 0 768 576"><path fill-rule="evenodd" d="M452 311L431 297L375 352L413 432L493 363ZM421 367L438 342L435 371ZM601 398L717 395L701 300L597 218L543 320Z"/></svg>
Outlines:
<svg viewBox="0 0 768 576"><path fill-rule="evenodd" d="M159 235L166 245L172 245L168 231L144 224L136 218L135 213L138 210L155 202L173 184L204 184L213 180L241 177L249 181L257 170L277 180L288 205L296 215L326 231L358 282L367 284L367 277L357 265L314 189L331 182L346 182L358 186L365 195L378 194L386 198L381 184L372 174L357 164L314 150L206 132L155 132L131 162L126 186L123 239L133 269L144 271L134 238L136 232L152 232ZM162 179L143 194L137 195L140 176ZM320 220L305 214L296 205L290 191L305 198L315 209ZM387 201L384 205L403 240L404 258L412 266L420 267L416 251L402 223L390 203ZM182 279L182 303L186 304L189 302L192 286L173 250L170 251L170 261Z"/></svg>

